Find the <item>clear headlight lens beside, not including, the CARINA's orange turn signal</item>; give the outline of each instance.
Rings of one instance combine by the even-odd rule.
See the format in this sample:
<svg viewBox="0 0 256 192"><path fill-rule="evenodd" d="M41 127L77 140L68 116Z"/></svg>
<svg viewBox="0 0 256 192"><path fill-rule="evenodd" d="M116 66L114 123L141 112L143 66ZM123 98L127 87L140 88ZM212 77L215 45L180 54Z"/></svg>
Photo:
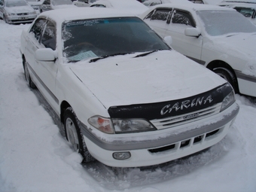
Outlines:
<svg viewBox="0 0 256 192"><path fill-rule="evenodd" d="M156 128L143 119L113 119L116 133L134 133L156 130Z"/></svg>

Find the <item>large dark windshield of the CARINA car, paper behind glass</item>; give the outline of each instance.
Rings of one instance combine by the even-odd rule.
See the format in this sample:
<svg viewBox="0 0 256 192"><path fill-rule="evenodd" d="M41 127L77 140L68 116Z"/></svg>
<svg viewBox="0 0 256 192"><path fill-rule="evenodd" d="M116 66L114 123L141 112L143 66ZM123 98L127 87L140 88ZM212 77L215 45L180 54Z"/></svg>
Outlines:
<svg viewBox="0 0 256 192"><path fill-rule="evenodd" d="M75 20L62 25L63 56L75 62L115 54L170 49L137 17Z"/></svg>

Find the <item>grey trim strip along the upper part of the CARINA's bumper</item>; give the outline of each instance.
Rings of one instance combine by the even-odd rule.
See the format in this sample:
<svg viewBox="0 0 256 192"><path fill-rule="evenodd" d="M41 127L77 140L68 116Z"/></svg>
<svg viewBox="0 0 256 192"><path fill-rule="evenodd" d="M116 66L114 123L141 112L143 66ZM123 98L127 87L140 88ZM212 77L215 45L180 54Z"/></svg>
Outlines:
<svg viewBox="0 0 256 192"><path fill-rule="evenodd" d="M80 122L81 133L90 139L95 145L108 151L132 151L138 149L148 149L148 148L160 148L165 145L171 145L176 142L184 141L192 137L201 136L204 133L209 133L214 130L218 130L225 126L227 123L232 121L239 112L239 105L235 104L233 111L228 114L224 114L220 120L215 120L213 123L207 123L202 126L197 126L193 130L187 130L182 133L172 133L170 129L169 133L160 133L157 135L157 131L154 131L156 135L153 136L139 136L135 138L134 136L129 137L106 137L107 139L102 139L100 136L96 136L92 131L87 129L87 126ZM158 130L160 131L160 130ZM105 135L105 133L102 133ZM112 135L111 135L112 136ZM117 135L114 135L117 136Z"/></svg>

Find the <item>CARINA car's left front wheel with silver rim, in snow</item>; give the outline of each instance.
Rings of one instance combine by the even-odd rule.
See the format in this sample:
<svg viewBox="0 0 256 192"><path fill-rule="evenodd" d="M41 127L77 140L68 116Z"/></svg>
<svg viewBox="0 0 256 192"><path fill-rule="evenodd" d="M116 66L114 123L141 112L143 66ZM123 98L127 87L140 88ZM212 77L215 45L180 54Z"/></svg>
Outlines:
<svg viewBox="0 0 256 192"><path fill-rule="evenodd" d="M64 128L66 139L72 145L72 148L84 158L81 163L88 163L95 160L87 150L84 137L81 134L80 121L78 120L78 117L76 117L72 107L66 108L66 111L64 112Z"/></svg>

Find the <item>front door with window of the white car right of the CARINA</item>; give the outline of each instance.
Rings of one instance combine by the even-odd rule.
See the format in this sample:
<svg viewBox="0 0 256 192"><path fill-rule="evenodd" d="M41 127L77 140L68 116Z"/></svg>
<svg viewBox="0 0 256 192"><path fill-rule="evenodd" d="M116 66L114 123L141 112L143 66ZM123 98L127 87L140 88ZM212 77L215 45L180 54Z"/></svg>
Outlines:
<svg viewBox="0 0 256 192"><path fill-rule="evenodd" d="M174 8L164 36L170 35L172 37L173 49L201 63L202 35L191 37L184 33L185 29L196 27L197 23L189 11Z"/></svg>

